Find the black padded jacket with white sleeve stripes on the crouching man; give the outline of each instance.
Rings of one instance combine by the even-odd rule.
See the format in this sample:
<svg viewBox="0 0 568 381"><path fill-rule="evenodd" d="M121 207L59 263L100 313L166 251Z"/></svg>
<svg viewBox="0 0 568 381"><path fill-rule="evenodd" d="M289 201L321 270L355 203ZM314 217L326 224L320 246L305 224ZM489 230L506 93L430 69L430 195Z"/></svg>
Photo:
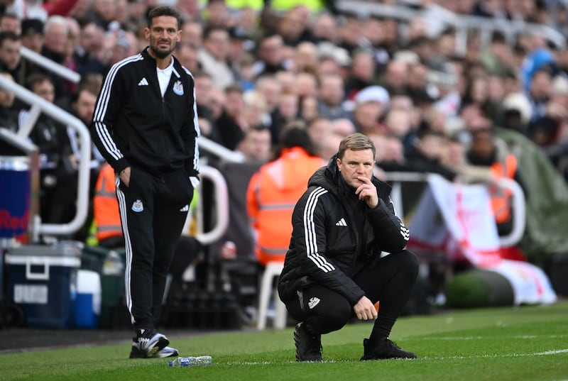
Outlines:
<svg viewBox="0 0 568 381"><path fill-rule="evenodd" d="M337 170L337 155L317 170L295 206L290 248L278 281L280 299L315 283L354 306L364 291L351 279L382 251L398 253L409 231L395 216L391 186L373 177L379 204L370 209Z"/></svg>

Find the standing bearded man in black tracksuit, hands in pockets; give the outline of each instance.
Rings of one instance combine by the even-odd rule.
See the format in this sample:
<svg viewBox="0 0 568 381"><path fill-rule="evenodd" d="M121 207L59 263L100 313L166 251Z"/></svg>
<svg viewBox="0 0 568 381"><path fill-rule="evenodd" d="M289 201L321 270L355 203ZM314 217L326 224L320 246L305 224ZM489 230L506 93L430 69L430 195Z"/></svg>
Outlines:
<svg viewBox="0 0 568 381"><path fill-rule="evenodd" d="M131 358L178 355L155 323L199 183L194 81L172 55L180 24L176 9L158 6L148 13L144 33L150 46L111 67L91 126L94 142L116 173L126 241L126 306L136 335Z"/></svg>

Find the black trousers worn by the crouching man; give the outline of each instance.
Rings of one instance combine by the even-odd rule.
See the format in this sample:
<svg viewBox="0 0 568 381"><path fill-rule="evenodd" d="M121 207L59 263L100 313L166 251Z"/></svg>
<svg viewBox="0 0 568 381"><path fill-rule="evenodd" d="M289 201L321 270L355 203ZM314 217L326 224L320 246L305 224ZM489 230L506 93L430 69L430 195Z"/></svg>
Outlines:
<svg viewBox="0 0 568 381"><path fill-rule="evenodd" d="M374 260L352 277L371 302L380 302L371 341L387 338L391 333L410 298L417 274L416 255L402 250ZM286 303L286 308L312 334L337 331L355 317L353 307L342 294L321 285L298 292L297 298Z"/></svg>

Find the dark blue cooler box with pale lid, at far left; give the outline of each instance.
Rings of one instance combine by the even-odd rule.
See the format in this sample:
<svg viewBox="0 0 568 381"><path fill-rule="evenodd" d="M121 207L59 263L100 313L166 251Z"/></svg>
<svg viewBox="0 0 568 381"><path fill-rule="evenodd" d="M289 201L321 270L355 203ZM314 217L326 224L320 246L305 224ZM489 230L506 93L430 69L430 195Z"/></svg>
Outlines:
<svg viewBox="0 0 568 381"><path fill-rule="evenodd" d="M4 257L9 300L26 314L26 326L69 328L74 321L80 242L23 245Z"/></svg>

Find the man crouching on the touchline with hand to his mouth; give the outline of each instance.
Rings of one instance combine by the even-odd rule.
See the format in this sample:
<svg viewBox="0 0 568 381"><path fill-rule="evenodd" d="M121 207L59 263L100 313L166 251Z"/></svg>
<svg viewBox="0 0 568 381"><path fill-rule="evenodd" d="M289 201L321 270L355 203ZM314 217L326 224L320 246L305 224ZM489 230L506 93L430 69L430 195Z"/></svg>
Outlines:
<svg viewBox="0 0 568 381"><path fill-rule="evenodd" d="M374 158L371 139L347 136L295 206L278 292L300 321L297 361L321 361L322 333L354 316L375 320L361 360L416 358L388 339L410 297L418 261L403 250L409 231L395 216L391 187L373 177Z"/></svg>

